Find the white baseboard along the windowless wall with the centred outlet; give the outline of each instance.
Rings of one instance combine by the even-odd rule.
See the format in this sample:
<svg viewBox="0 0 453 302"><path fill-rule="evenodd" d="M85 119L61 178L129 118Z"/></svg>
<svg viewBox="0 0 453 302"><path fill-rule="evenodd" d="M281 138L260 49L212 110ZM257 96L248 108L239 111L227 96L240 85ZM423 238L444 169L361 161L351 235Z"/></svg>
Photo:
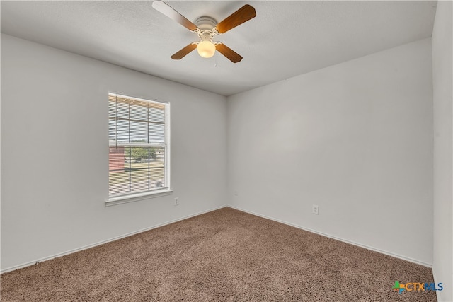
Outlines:
<svg viewBox="0 0 453 302"><path fill-rule="evenodd" d="M373 247L368 246L368 245L363 245L361 243L356 243L354 241L346 240L346 239L343 239L343 238L338 238L336 236L331 236L331 235L326 234L326 233L321 233L319 231L315 231L315 230L313 230L311 228L306 228L304 226L299 226L299 225L294 224L294 223L289 223L287 221L282 221L280 219L275 219L275 218L270 217L270 216L265 216L265 215L262 215L262 214L258 214L258 213L255 213L253 211L248 211L246 209L241 209L239 207L234 207L234 206L231 206L231 204L229 204L228 207L230 207L231 209L236 209L236 210L239 210L239 211L246 212L248 214L252 214L252 215L255 215L255 216L263 217L265 219L270 219L272 221L277 221L277 222L286 224L287 226L294 226L294 228L300 228L301 230L304 230L304 231L309 231L311 233L316 233L316 234L321 235L321 236L325 236L325 237L332 238L332 239L335 239L335 240L340 240L340 241L343 241L344 243L357 245L360 248L366 248L367 250L372 250L374 252L380 252L381 254L384 254L384 255L388 255L388 256L391 256L391 257L396 257L396 258L401 259L401 260L406 260L406 261L409 261L409 262L413 262L413 263L415 263L417 265L423 265L424 267L430 267L432 269L432 264L429 264L429 263L426 263L426 262L422 262L422 261L415 260L415 259L412 259L412 258L409 258L409 257L405 257L405 256L402 256L402 255L394 254L393 252L387 252L386 250L379 250L379 248L373 248Z"/></svg>

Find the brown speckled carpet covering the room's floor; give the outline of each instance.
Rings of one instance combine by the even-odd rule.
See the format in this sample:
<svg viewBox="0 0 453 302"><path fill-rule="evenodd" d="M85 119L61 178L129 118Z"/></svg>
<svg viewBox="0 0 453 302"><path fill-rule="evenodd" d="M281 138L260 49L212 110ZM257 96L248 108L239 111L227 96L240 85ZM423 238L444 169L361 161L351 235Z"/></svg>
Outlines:
<svg viewBox="0 0 453 302"><path fill-rule="evenodd" d="M436 301L427 267L231 208L1 274L1 301Z"/></svg>

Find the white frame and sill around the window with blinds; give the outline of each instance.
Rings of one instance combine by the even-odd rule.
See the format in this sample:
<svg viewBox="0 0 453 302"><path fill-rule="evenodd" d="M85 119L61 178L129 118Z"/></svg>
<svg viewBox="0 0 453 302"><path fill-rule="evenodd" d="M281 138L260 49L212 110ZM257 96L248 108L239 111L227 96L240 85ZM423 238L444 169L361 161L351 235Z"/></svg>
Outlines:
<svg viewBox="0 0 453 302"><path fill-rule="evenodd" d="M156 100L156 99L145 99L145 98L135 98L130 95L125 95L122 93L113 93L109 92L108 95L112 96L118 96L120 98L129 98L132 100L138 100L142 102L151 102L151 103L161 103L165 105L165 116L164 116L164 122L165 122L165 163L164 163L164 182L166 184L165 187L159 190L147 190L147 191L142 191L142 192L132 192L130 194L123 194L115 197L108 197L108 199L105 201L105 206L112 206L115 204L125 204L128 202L137 202L139 200L144 200L144 199L150 199L150 198L155 198L155 197L161 197L165 196L168 194L171 194L173 190L171 189L171 140L170 140L170 102L162 101L162 100ZM131 145L137 145L139 146L140 144L129 144ZM109 140L108 144L109 148L110 146L116 146L116 144L112 144Z"/></svg>

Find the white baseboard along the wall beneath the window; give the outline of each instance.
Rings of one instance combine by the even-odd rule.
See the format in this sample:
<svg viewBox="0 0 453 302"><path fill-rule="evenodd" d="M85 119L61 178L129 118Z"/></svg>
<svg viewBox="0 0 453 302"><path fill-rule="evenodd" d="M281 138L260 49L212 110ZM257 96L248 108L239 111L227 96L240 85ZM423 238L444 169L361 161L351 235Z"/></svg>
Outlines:
<svg viewBox="0 0 453 302"><path fill-rule="evenodd" d="M215 211L217 209L222 209L224 207L227 207L227 206L223 205L223 206L220 206L220 207L215 207L213 209L209 209L209 210L206 210L206 211L201 211L201 212L198 212L198 213L195 213L195 214L190 214L188 216L183 216L183 217L181 217L179 219L174 219L174 220L171 220L171 221L166 221L164 223L159 223L159 224L156 224L154 226L150 226L149 228L142 228L139 231L134 231L134 232L127 233L127 234L124 234L124 235L121 235L121 236L116 236L116 237L113 237L113 238L110 238L110 239L107 239L107 240L102 240L102 241L99 241L97 243L92 243L90 245L85 245L85 246L82 246L81 248L74 248L73 250L68 250L66 252L59 252L58 254L55 254L55 255L52 255L52 256L49 256L49 257L44 257L44 258L40 258L40 259L37 259L37 260L33 260L33 261L30 261L30 262L23 263L21 265L15 265L13 267L8 267L6 269L1 269L0 274L3 274L5 272L11 272L11 271L16 270L16 269L21 269L23 267L29 267L30 265L35 265L36 263L39 263L39 262L51 260L51 259L54 259L54 258L57 258L57 257L62 257L62 256L65 256L65 255L72 254L74 252L79 252L81 250L86 250L88 248L94 248L95 246L102 245L104 243L115 241L115 240L118 240L118 239L121 239L121 238L125 238L125 237L128 237L128 236L132 236L132 235L138 234L138 233L146 232L146 231L152 230L154 228L159 228L161 226L166 226L167 224L175 223L175 222L178 222L178 221L181 221L181 220L184 220L184 219L189 219L191 217L198 216L198 215L201 215L201 214L206 214L206 213L208 213L210 211Z"/></svg>

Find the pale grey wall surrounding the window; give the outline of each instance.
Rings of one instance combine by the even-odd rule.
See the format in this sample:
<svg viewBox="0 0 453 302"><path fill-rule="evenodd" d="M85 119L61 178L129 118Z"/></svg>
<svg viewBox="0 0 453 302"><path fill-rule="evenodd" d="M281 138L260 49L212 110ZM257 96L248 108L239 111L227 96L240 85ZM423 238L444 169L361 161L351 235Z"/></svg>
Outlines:
<svg viewBox="0 0 453 302"><path fill-rule="evenodd" d="M171 103L172 195L105 207L108 91ZM4 271L224 206L225 184L224 96L1 35Z"/></svg>

